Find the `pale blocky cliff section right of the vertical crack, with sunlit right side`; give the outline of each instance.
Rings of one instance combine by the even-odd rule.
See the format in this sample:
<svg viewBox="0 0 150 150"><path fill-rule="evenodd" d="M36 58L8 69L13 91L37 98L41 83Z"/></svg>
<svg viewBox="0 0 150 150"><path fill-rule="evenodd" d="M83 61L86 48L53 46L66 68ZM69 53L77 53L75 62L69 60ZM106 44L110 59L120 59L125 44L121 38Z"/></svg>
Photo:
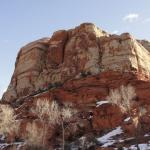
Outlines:
<svg viewBox="0 0 150 150"><path fill-rule="evenodd" d="M149 79L149 52L130 34L100 38L103 71L135 72Z"/></svg>

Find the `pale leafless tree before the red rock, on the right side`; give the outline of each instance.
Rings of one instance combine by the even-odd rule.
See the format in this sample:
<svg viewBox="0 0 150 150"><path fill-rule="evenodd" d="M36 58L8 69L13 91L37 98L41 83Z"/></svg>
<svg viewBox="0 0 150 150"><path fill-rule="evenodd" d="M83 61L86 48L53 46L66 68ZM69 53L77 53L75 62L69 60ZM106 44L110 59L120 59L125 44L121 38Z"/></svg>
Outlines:
<svg viewBox="0 0 150 150"><path fill-rule="evenodd" d="M141 125L140 125L140 117L143 116L147 111L144 107L133 108L133 99L136 97L135 89L131 85L127 86L120 86L118 89L110 90L109 95L107 96L107 100L110 103L118 105L122 112L126 112L129 114L129 117L132 119L134 126L136 128L135 131L135 138L137 140L137 149L138 147L138 136L141 132Z"/></svg>

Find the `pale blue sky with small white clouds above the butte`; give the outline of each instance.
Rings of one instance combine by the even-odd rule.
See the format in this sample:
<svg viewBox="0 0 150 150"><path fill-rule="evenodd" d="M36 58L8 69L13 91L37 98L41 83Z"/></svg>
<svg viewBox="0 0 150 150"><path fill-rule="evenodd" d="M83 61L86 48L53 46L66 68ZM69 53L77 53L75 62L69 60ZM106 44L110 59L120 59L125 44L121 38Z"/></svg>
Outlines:
<svg viewBox="0 0 150 150"><path fill-rule="evenodd" d="M149 8L150 0L0 0L0 95L20 47L28 42L83 22L150 39Z"/></svg>

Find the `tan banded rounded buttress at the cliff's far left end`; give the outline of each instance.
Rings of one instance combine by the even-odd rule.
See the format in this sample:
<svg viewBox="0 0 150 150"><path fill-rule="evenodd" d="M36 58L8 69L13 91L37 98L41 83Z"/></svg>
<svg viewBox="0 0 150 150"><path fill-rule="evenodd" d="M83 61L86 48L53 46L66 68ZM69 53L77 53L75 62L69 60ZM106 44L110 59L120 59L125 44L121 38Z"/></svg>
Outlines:
<svg viewBox="0 0 150 150"><path fill-rule="evenodd" d="M45 68L44 58L48 41L48 38L44 38L21 48L11 83L3 96L6 101L15 100L34 91L35 82Z"/></svg>

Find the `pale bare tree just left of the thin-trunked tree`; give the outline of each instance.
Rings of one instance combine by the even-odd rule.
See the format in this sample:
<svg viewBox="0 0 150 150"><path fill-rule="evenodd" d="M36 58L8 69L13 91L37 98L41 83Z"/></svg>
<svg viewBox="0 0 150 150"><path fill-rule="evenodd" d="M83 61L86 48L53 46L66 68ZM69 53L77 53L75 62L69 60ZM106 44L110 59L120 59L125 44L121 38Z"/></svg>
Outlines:
<svg viewBox="0 0 150 150"><path fill-rule="evenodd" d="M37 139L35 140L34 145L36 145L36 143L40 145L45 145L46 135L47 135L49 125L57 124L57 122L59 121L58 105L55 101L49 102L48 99L42 99L42 100L38 99L36 102L35 108L32 109L32 112L38 116L38 119L42 123L42 129L40 131L37 131L38 130L37 126L33 124L30 127L30 129L28 129L28 133L33 134L33 136L34 134L37 133L37 136L38 136L38 132L40 132L41 135L39 137L35 136L35 138ZM31 131L31 128L34 128L34 130ZM28 142L28 144L31 144L31 143L32 142Z"/></svg>

